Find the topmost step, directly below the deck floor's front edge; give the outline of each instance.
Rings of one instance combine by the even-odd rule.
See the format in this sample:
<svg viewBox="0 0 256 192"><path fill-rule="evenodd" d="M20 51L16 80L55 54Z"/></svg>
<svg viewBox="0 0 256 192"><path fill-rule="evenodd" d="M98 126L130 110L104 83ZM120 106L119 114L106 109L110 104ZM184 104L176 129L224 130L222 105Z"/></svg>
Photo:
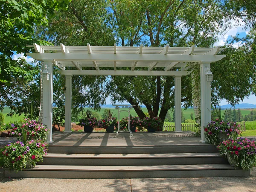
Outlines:
<svg viewBox="0 0 256 192"><path fill-rule="evenodd" d="M134 145L134 146L76 146L50 145L49 153L76 154L143 154L143 153L211 153L218 152L210 144L192 145Z"/></svg>

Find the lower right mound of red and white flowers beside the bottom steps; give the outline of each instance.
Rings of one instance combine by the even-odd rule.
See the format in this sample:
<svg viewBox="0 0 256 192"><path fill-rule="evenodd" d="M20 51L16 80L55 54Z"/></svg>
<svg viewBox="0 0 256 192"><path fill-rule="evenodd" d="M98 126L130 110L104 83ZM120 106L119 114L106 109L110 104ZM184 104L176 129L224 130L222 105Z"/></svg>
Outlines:
<svg viewBox="0 0 256 192"><path fill-rule="evenodd" d="M221 155L230 155L231 163L235 163L235 167L242 169L251 169L256 166L256 146L254 141L246 138L237 140L225 140L218 145Z"/></svg>

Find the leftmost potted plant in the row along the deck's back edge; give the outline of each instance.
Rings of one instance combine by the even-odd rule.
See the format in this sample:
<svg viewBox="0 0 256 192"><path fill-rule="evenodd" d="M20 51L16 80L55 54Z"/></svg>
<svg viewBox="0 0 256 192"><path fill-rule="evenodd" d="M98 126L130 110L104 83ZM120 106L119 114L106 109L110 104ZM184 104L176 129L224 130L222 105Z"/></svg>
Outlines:
<svg viewBox="0 0 256 192"><path fill-rule="evenodd" d="M92 112L87 110L85 112L85 117L83 119L79 119L79 124L81 127L84 126L84 132L91 133L93 129L98 125L98 121L95 117L92 117Z"/></svg>

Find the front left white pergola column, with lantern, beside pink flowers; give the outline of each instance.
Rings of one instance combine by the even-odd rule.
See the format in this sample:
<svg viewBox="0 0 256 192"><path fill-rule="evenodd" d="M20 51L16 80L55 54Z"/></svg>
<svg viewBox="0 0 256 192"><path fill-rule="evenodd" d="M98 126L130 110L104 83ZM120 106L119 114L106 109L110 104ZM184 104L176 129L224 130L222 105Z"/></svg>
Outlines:
<svg viewBox="0 0 256 192"><path fill-rule="evenodd" d="M53 66L52 61L44 61L44 65L47 66L49 73L49 80L47 77L43 79L43 117L42 122L47 125L48 135L47 143L53 143L52 141L52 96L53 96ZM42 75L42 74L41 74Z"/></svg>

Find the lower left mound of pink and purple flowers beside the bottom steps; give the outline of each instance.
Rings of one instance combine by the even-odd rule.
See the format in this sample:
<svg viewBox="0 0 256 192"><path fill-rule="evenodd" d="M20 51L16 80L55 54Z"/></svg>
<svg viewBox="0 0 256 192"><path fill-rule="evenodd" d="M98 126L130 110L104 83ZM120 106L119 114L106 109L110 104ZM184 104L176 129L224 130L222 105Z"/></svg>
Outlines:
<svg viewBox="0 0 256 192"><path fill-rule="evenodd" d="M43 155L47 154L48 145L41 140L31 140L26 143L17 141L6 145L2 152L4 165L16 171L27 167L35 167L38 161L43 160Z"/></svg>

